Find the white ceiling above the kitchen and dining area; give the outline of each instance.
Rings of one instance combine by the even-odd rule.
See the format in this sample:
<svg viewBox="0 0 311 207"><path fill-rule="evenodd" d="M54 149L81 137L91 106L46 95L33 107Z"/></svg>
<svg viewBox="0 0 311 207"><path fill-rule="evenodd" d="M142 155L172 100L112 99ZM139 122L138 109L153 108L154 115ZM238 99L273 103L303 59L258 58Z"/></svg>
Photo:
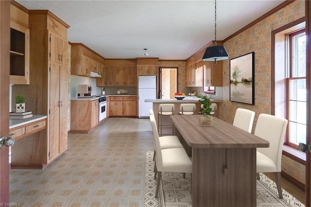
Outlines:
<svg viewBox="0 0 311 207"><path fill-rule="evenodd" d="M285 0L217 0L217 40L224 40ZM214 0L17 0L69 24L68 40L105 58L186 60L214 40Z"/></svg>

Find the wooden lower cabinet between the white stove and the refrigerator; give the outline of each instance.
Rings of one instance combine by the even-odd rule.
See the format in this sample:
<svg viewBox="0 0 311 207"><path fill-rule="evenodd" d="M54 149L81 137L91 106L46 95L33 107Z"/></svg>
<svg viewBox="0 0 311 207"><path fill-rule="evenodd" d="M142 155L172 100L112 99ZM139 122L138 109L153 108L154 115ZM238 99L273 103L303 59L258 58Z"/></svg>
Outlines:
<svg viewBox="0 0 311 207"><path fill-rule="evenodd" d="M111 96L109 116L135 117L137 116L136 96Z"/></svg>

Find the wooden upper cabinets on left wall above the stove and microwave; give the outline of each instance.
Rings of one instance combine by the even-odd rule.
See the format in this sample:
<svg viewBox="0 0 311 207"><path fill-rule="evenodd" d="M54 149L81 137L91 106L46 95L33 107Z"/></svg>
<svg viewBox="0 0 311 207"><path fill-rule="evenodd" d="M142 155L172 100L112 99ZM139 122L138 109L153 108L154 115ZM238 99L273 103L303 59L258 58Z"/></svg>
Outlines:
<svg viewBox="0 0 311 207"><path fill-rule="evenodd" d="M104 57L81 43L71 43L71 75L98 77L97 74L104 76Z"/></svg>

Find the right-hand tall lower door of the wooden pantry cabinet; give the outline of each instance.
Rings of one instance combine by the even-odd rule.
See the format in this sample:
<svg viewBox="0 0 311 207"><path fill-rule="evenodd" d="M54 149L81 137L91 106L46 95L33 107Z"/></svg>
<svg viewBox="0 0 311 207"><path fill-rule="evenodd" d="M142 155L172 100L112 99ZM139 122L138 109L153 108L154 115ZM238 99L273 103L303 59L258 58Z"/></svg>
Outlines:
<svg viewBox="0 0 311 207"><path fill-rule="evenodd" d="M68 70L66 65L60 66L59 92L59 154L67 150L68 139Z"/></svg>

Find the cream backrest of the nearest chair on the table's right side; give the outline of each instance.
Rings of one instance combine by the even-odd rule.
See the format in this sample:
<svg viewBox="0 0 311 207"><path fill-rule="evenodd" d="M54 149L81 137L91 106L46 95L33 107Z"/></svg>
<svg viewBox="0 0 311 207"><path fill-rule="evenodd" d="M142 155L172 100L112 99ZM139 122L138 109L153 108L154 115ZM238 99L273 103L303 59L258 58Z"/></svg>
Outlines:
<svg viewBox="0 0 311 207"><path fill-rule="evenodd" d="M281 171L282 149L287 127L287 120L269 114L260 114L254 135L270 142L268 148L257 151L270 157L276 163L277 172Z"/></svg>

